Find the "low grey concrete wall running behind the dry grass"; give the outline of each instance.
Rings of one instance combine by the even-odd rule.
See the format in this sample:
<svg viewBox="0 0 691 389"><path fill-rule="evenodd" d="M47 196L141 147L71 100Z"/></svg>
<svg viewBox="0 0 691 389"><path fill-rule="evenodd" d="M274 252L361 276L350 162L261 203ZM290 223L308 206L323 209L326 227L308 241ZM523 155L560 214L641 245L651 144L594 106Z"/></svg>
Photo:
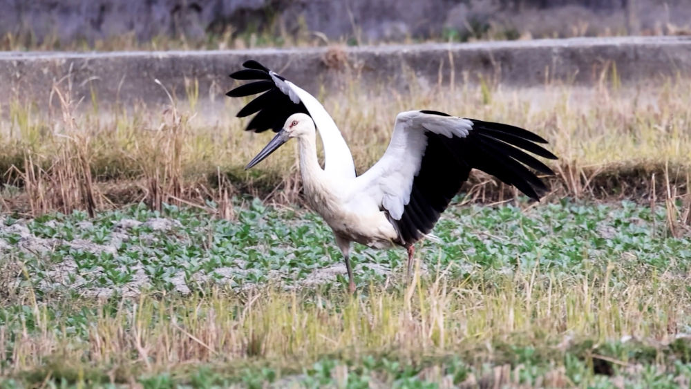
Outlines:
<svg viewBox="0 0 691 389"><path fill-rule="evenodd" d="M94 91L101 103L167 102L154 79L185 98L197 79L200 98L223 101L227 77L258 59L312 93L359 79L363 87L431 88L478 77L505 85L598 82L616 70L623 83L690 77L691 37L574 38L477 44L359 48L227 50L139 53L0 53L0 104L13 99L47 104L53 82L70 74L76 96ZM64 87L64 85L63 85Z"/></svg>

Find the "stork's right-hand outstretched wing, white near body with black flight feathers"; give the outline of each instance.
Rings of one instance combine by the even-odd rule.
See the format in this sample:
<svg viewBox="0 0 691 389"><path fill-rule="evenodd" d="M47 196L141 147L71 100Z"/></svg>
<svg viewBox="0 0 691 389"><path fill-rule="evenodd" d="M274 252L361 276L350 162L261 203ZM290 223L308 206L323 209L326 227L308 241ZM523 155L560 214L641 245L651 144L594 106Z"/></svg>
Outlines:
<svg viewBox="0 0 691 389"><path fill-rule="evenodd" d="M507 124L408 111L396 117L384 156L357 178L358 187L381 200L399 231L401 245L415 243L439 220L471 169L494 175L538 200L545 183L528 168L553 174L543 158L556 156L530 131Z"/></svg>

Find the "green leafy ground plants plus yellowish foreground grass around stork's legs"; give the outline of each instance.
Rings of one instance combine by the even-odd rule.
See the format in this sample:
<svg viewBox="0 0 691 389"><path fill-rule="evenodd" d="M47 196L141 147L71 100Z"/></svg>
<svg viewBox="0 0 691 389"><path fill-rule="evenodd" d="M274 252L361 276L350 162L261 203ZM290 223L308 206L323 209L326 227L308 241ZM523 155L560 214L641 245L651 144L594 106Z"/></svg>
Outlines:
<svg viewBox="0 0 691 389"><path fill-rule="evenodd" d="M691 231L665 205L465 200L411 287L404 252L356 245L355 296L297 207L6 217L0 385L688 385Z"/></svg>

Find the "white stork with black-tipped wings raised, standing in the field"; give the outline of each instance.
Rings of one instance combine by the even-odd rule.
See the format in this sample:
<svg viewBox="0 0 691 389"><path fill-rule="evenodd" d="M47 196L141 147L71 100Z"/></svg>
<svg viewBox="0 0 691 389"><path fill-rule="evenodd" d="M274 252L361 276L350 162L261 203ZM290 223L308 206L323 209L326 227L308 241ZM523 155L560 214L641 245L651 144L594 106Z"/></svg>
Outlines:
<svg viewBox="0 0 691 389"><path fill-rule="evenodd" d="M528 167L549 175L553 171L525 152L556 159L538 145L547 143L542 137L508 124L427 110L399 113L384 155L357 175L348 144L314 96L258 61L246 61L243 67L230 77L252 82L226 95L262 93L237 116L256 113L247 131L272 129L277 133L245 169L296 138L305 198L333 230L345 259L351 293L355 284L350 244L405 247L410 277L414 244L434 227L471 169L494 175L533 200L547 191ZM323 169L316 155L316 131L323 142Z"/></svg>

